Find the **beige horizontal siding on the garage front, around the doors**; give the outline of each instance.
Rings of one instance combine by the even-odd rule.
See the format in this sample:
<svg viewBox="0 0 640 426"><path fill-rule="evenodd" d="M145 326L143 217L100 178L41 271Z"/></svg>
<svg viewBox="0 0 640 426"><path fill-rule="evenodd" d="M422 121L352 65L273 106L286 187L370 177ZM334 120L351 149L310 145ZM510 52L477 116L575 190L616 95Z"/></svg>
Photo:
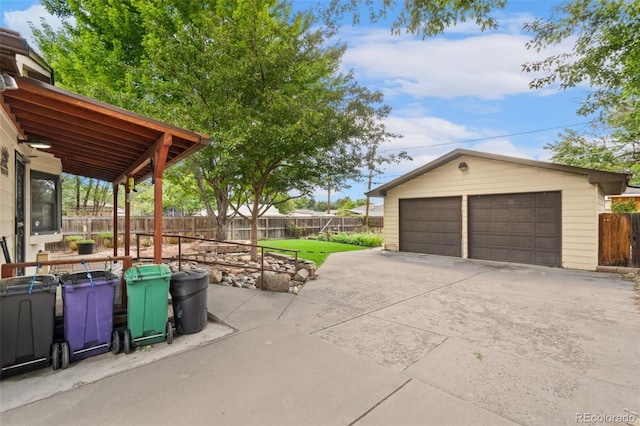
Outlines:
<svg viewBox="0 0 640 426"><path fill-rule="evenodd" d="M465 162L469 169L458 170ZM389 189L384 202L385 248L398 250L400 198L463 196L462 255L468 257L467 196L519 192L562 192L562 266L595 270L598 263L598 185L585 175L531 167L472 156L461 156L426 174Z"/></svg>

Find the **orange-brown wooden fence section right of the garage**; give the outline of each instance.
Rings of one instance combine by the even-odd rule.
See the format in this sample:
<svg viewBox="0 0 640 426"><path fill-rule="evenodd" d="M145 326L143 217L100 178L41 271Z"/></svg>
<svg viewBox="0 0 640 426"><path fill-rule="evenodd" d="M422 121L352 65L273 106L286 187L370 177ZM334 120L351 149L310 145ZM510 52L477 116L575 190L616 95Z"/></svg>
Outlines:
<svg viewBox="0 0 640 426"><path fill-rule="evenodd" d="M640 213L601 213L598 264L640 268Z"/></svg>

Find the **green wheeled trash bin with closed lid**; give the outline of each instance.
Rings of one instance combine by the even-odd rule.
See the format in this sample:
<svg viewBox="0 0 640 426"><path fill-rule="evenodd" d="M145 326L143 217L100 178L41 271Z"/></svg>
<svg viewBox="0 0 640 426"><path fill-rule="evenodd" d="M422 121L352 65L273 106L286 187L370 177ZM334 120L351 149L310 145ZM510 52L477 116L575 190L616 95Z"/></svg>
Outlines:
<svg viewBox="0 0 640 426"><path fill-rule="evenodd" d="M124 272L127 282L127 328L124 353L152 343L173 341L168 318L171 270L166 265L133 266Z"/></svg>

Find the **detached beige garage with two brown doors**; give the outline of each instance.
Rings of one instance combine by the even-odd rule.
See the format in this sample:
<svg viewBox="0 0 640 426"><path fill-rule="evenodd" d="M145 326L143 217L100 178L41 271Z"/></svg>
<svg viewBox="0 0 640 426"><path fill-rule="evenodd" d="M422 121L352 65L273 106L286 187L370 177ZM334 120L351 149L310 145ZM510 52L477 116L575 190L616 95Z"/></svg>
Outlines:
<svg viewBox="0 0 640 426"><path fill-rule="evenodd" d="M628 178L459 149L368 195L387 250L595 270L598 214Z"/></svg>

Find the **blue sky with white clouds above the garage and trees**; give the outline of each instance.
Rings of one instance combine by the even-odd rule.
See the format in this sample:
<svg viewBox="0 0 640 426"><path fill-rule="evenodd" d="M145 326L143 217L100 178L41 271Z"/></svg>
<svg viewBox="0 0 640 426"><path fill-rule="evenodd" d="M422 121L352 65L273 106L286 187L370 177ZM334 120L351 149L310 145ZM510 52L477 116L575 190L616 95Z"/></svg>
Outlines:
<svg viewBox="0 0 640 426"><path fill-rule="evenodd" d="M300 8L316 3L294 1ZM340 39L348 46L344 68L352 69L361 85L384 93L385 103L393 108L385 124L403 135L381 151L406 150L413 157L387 166L375 178L378 185L456 148L547 161L550 153L543 146L555 141L563 127L584 127L576 124L588 118L575 111L588 87L531 90L528 85L535 76L522 72L525 62L572 48L565 44L537 54L525 47L531 35L522 31L522 25L546 16L555 4L510 0L507 8L494 13L499 23L495 31L481 33L464 23L427 40L392 36L390 21L342 28ZM27 39L28 21L37 23L46 15L34 0L0 0L0 11L2 26ZM48 17L47 22L55 21ZM363 198L365 190L364 183L354 183L331 198ZM318 191L315 197L326 200L326 193Z"/></svg>

